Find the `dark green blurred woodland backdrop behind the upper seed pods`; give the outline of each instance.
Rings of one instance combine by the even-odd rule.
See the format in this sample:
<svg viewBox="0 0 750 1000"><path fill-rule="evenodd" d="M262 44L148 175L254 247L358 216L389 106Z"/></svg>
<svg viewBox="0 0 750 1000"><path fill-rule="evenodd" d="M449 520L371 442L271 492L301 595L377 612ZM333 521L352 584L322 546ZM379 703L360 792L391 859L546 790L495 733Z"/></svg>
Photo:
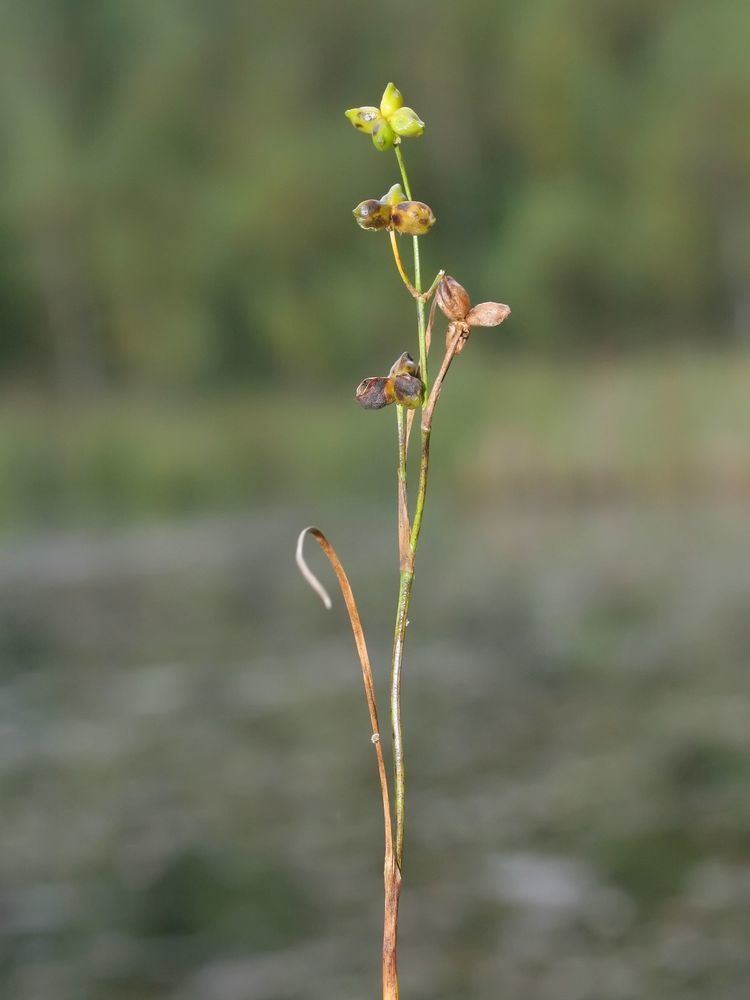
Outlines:
<svg viewBox="0 0 750 1000"><path fill-rule="evenodd" d="M428 122L426 266L513 305L493 342L740 342L749 32L736 0L8 0L0 372L323 387L403 350L386 240L349 215L395 159L342 114L389 78Z"/></svg>

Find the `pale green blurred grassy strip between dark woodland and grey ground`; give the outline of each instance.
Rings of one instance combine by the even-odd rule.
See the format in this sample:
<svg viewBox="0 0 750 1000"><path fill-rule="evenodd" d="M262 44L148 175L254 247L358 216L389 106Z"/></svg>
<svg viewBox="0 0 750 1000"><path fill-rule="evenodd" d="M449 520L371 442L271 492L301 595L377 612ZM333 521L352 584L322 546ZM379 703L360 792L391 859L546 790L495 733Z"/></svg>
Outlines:
<svg viewBox="0 0 750 1000"><path fill-rule="evenodd" d="M487 333L456 362L441 400L433 489L478 507L750 495L750 357L506 358L489 368L478 343ZM311 510L343 498L389 503L394 436L391 420L343 390L304 405L263 387L193 402L12 397L0 407L0 530L300 496Z"/></svg>

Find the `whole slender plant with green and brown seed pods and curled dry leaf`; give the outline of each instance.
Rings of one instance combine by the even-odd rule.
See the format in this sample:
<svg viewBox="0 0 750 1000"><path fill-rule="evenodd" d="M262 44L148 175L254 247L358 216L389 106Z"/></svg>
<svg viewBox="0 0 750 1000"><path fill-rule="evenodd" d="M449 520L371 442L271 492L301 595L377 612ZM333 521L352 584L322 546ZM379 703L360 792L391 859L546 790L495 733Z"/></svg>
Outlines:
<svg viewBox="0 0 750 1000"><path fill-rule="evenodd" d="M364 631L349 580L338 556L318 528L305 528L297 542L297 564L318 593L327 608L331 600L320 581L311 572L302 553L306 535L312 535L328 557L338 578L346 609L349 614L354 641L362 667L365 696L370 714L371 740L380 779L385 827L385 917L383 926L383 1000L397 1000L398 969L398 906L401 892L401 871L404 852L404 801L405 771L404 749L401 733L401 676L404 659L404 639L407 614L414 580L414 561L422 527L427 482L430 470L430 436L435 406L443 388L443 381L451 362L464 349L472 327L498 326L510 315L508 306L500 302L480 302L471 305L468 292L456 281L438 271L427 291L422 291L422 272L419 256L419 239L435 224L435 215L429 205L412 197L409 177L401 153L401 141L421 136L425 123L411 108L404 106L400 91L389 83L383 93L380 107L353 108L346 117L360 132L369 135L376 149L385 152L393 149L401 173L401 183L394 184L382 198L368 198L354 209L354 218L362 229L385 232L393 252L396 268L407 291L417 305L417 345L419 360L405 351L393 364L387 375L364 379L357 387L355 398L366 410L380 410L395 404L398 444L398 471L396 496L398 509L399 590L396 605L396 626L391 657L391 732L393 740L393 799L389 791L388 772L385 766L378 723L377 701L372 668L365 643ZM414 280L409 279L401 260L398 237L411 236L414 255ZM434 296L434 297L433 297ZM429 318L426 303L432 299ZM428 377L428 358L435 322L436 306L448 319L445 336L445 353L432 384ZM421 410L421 449L419 482L410 513L406 477L406 455L409 448L414 414ZM393 802L393 806L391 806Z"/></svg>

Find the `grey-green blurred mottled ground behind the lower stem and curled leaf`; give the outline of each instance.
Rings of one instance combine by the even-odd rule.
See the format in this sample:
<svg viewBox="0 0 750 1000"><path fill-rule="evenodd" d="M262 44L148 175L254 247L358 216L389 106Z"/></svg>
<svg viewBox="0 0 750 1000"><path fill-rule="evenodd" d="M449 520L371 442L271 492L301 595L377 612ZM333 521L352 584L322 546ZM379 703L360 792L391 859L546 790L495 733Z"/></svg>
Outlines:
<svg viewBox="0 0 750 1000"><path fill-rule="evenodd" d="M744 998L744 505L456 513L411 615L404 994ZM375 994L374 764L306 520L6 545L3 996ZM330 520L384 697L391 511Z"/></svg>

